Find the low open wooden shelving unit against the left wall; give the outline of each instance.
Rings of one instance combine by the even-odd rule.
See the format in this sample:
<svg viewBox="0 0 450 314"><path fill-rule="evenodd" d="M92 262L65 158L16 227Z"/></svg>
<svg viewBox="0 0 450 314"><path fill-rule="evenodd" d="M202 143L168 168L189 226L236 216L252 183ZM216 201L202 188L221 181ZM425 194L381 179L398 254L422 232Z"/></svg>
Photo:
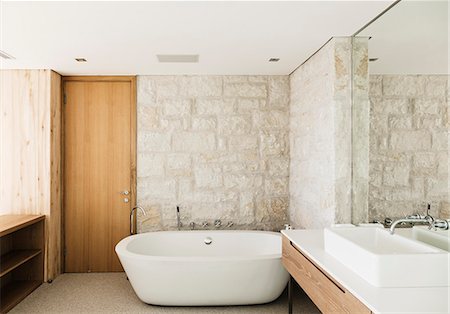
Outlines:
<svg viewBox="0 0 450 314"><path fill-rule="evenodd" d="M44 215L0 216L0 313L44 279Z"/></svg>

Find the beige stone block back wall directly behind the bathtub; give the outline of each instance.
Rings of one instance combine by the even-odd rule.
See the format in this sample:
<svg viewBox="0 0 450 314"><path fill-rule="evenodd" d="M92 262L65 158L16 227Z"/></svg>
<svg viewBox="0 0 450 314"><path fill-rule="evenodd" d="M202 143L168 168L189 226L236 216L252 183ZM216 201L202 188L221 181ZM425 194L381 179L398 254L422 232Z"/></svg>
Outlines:
<svg viewBox="0 0 450 314"><path fill-rule="evenodd" d="M287 222L288 76L139 76L141 232Z"/></svg>

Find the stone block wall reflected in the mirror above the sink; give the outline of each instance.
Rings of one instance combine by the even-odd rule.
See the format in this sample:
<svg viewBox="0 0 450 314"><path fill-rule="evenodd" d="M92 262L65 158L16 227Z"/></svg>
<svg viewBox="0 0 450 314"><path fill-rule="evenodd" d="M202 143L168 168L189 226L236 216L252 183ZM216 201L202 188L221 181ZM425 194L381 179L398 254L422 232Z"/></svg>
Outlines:
<svg viewBox="0 0 450 314"><path fill-rule="evenodd" d="M370 76L369 219L450 218L446 76Z"/></svg>

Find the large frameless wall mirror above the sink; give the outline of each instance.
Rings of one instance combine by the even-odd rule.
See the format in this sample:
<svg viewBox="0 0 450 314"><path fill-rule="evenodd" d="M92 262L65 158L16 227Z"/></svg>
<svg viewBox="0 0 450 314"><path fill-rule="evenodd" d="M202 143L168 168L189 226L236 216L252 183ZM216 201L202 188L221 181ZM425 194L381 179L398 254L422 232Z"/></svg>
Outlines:
<svg viewBox="0 0 450 314"><path fill-rule="evenodd" d="M450 218L448 1L401 1L353 38L353 223Z"/></svg>

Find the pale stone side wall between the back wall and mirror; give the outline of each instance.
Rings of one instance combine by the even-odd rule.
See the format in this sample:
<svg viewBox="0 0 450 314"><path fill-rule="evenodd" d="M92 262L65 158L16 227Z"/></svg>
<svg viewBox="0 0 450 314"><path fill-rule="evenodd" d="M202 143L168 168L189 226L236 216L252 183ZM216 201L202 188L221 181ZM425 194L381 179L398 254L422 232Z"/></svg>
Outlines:
<svg viewBox="0 0 450 314"><path fill-rule="evenodd" d="M351 221L351 39L333 38L290 76L290 220Z"/></svg>

